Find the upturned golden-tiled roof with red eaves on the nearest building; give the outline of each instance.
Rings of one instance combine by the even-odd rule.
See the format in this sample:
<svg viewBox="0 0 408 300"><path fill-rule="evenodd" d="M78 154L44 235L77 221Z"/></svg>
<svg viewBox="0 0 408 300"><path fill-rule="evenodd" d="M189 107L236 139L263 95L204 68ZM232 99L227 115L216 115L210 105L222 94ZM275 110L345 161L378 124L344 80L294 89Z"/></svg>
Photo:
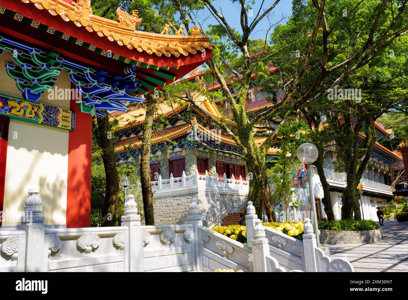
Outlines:
<svg viewBox="0 0 408 300"><path fill-rule="evenodd" d="M141 95L184 76L211 57L206 35L137 31L142 18L117 10L119 21L92 14L90 0L0 0L0 31L93 68L122 74L137 66Z"/></svg>

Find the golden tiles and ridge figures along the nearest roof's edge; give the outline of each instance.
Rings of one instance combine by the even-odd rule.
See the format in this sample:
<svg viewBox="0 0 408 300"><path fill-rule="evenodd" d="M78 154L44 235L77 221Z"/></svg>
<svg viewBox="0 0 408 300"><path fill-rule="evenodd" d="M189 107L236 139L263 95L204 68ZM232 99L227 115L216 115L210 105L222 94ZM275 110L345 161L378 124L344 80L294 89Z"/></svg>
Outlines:
<svg viewBox="0 0 408 300"><path fill-rule="evenodd" d="M206 35L169 35L137 31L135 27L142 22L137 11L129 15L118 8L118 22L93 15L90 0L77 0L72 4L63 0L21 1L33 4L38 9L46 9L53 16L60 16L67 22L73 22L78 27L82 26L89 32L95 32L100 37L105 37L111 42L116 41L120 46L136 49L139 52L179 57L214 48Z"/></svg>

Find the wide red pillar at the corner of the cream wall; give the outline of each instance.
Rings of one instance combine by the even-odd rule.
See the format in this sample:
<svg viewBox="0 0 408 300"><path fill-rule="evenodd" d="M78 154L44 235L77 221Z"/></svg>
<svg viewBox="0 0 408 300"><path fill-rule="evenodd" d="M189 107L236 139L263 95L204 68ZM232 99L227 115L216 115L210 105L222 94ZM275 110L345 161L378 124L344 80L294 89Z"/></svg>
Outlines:
<svg viewBox="0 0 408 300"><path fill-rule="evenodd" d="M67 228L90 227L92 116L82 113L75 100L70 106L75 130L69 132L68 141Z"/></svg>

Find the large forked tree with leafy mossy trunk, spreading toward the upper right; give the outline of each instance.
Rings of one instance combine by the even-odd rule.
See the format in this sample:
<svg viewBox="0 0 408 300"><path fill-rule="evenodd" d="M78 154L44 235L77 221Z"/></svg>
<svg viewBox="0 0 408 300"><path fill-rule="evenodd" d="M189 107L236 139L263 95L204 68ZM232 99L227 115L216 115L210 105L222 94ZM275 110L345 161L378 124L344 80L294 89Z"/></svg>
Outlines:
<svg viewBox="0 0 408 300"><path fill-rule="evenodd" d="M230 118L236 127L229 128L223 120L212 116L208 118L242 149L255 179L250 183L248 199L257 204L259 212L262 212L259 208L266 208L269 220L274 219L274 214L266 195L265 155L275 143L280 126L309 104L326 97L329 88L341 84L406 35L406 2L294 0L293 15L281 25L280 20L273 22L270 14L279 0L266 8L262 1L257 13L251 14L255 17L248 14L251 8L245 1L232 0L231 5L240 7L236 16L241 25L238 32L213 1L202 0L217 23L209 25L206 31L216 46L213 57L206 62L211 70L207 75L220 84L223 96L231 105ZM251 34L263 19L271 21L270 28L265 30L266 38L263 42L251 41ZM194 22L200 24L197 18ZM268 63L277 67L277 76L270 76ZM284 97L253 116L246 111L246 99L254 72L275 90L283 90ZM200 106L196 107L206 114ZM280 121L258 146L254 126L261 121L276 120Z"/></svg>

